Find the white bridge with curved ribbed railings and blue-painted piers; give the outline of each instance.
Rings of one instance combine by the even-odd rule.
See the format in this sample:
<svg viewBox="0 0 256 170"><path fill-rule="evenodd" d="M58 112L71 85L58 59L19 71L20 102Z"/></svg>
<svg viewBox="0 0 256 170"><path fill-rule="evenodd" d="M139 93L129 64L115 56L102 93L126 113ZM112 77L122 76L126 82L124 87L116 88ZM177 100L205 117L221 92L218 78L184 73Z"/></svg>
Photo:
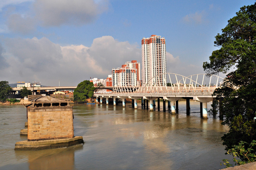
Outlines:
<svg viewBox="0 0 256 170"><path fill-rule="evenodd" d="M203 118L207 118L207 103L215 100L216 96L213 96L213 92L216 88L221 87L224 79L217 75L195 74L190 76L183 76L174 73L165 73L170 83L164 82L164 86L160 82L154 82L155 77L151 78L148 82L143 84L137 84L137 86L131 86L127 82L118 82L114 84L112 93L94 93L96 101L100 98L102 103L103 97L106 98L106 104L109 103L109 98L114 99L113 104L116 105L116 99L122 99L123 107L125 107L125 99L132 99L134 108L137 109L137 100L142 99L142 105L150 103L149 110L153 111L153 105L155 100L160 105L160 98L163 99L163 106L165 111L165 100L168 100L168 107L171 108L172 114L175 114L175 102L176 109L178 108L178 100L186 99L187 112L189 112L190 99L200 102L200 110ZM206 85L208 82L208 86ZM126 84L126 86L120 86L120 84Z"/></svg>

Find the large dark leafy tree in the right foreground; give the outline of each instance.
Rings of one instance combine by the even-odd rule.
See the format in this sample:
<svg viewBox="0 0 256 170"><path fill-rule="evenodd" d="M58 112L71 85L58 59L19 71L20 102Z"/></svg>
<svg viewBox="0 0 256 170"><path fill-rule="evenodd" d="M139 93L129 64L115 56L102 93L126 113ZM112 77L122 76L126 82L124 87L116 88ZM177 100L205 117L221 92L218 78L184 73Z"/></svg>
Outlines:
<svg viewBox="0 0 256 170"><path fill-rule="evenodd" d="M222 136L227 151L240 141L246 142L247 149L256 139L256 3L243 6L236 14L215 37L220 49L203 64L207 74L227 73L222 88L213 94L220 102L222 124L229 126Z"/></svg>

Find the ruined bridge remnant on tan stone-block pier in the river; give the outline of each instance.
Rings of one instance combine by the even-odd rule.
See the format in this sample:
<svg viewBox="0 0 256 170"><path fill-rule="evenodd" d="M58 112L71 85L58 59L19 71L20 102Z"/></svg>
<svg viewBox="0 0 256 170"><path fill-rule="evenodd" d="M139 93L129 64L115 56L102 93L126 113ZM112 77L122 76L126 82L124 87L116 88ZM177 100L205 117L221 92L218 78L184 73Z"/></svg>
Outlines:
<svg viewBox="0 0 256 170"><path fill-rule="evenodd" d="M34 96L27 107L27 140L15 144L15 150L39 150L69 147L83 143L74 136L73 106L69 101L49 96Z"/></svg>

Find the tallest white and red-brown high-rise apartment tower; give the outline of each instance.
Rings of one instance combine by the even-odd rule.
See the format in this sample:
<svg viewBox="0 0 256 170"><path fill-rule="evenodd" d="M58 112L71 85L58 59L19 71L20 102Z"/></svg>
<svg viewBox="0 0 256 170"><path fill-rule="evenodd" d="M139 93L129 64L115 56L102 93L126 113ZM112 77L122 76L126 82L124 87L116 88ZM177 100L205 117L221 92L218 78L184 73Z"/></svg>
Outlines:
<svg viewBox="0 0 256 170"><path fill-rule="evenodd" d="M151 35L143 38L142 46L142 82L165 86L166 49L165 38Z"/></svg>

